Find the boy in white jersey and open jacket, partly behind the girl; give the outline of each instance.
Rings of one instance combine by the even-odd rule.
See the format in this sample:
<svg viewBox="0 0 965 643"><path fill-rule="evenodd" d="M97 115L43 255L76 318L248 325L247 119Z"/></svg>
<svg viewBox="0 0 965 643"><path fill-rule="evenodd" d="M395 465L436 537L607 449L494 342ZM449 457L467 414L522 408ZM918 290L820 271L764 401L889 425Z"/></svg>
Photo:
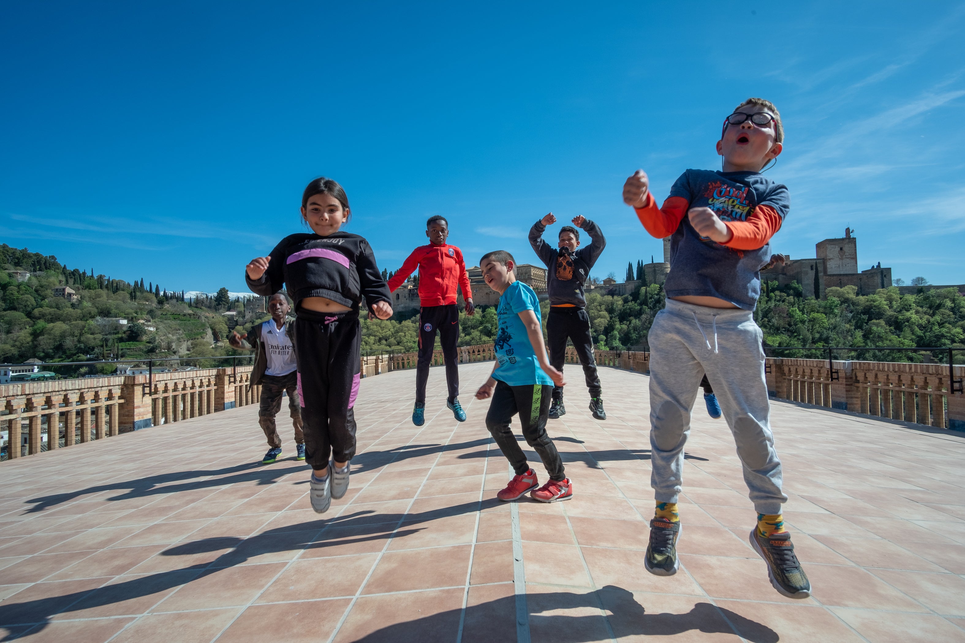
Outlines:
<svg viewBox="0 0 965 643"><path fill-rule="evenodd" d="M268 439L268 452L262 465L270 465L282 454L282 440L275 426L275 415L282 409L282 395L289 393L289 414L295 429L297 460L305 459L305 438L302 435L301 409L298 399L298 372L294 353L294 324L288 319L291 307L283 292L268 300L271 319L251 329L247 335L232 333L228 339L234 348L257 351L251 372L251 385L262 385L262 403L258 423ZM245 341L247 339L247 341Z"/></svg>

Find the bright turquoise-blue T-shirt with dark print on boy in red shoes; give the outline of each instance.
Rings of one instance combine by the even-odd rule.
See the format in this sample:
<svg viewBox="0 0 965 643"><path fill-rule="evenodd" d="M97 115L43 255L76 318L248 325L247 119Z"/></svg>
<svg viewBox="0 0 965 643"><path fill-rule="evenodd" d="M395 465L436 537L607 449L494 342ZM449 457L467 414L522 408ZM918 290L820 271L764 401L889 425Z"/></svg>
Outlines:
<svg viewBox="0 0 965 643"><path fill-rule="evenodd" d="M539 299L536 291L522 281L513 281L499 298L499 333L496 335L496 362L493 379L510 387L553 384L549 375L539 367L537 354L526 333L526 325L519 318L523 310L533 310L539 319ZM541 322L540 322L541 324ZM541 326L540 326L541 329Z"/></svg>

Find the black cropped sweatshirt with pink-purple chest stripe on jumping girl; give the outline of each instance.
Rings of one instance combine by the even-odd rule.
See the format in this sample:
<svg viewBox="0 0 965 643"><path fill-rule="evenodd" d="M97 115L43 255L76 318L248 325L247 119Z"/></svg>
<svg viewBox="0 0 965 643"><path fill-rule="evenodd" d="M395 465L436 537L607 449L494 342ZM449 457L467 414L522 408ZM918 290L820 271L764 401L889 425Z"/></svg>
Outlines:
<svg viewBox="0 0 965 643"><path fill-rule="evenodd" d="M372 248L358 234L341 230L324 237L290 234L269 256L262 279L252 280L245 272L245 281L252 292L264 297L281 290L284 283L295 309L306 297L325 297L356 310L363 297L370 309L377 302L392 302Z"/></svg>

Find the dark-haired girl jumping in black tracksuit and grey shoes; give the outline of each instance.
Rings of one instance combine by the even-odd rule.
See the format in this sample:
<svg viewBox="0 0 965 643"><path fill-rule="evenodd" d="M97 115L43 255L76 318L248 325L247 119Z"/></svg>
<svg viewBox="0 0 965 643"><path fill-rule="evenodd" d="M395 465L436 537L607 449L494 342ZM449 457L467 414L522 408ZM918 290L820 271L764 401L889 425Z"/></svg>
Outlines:
<svg viewBox="0 0 965 643"><path fill-rule="evenodd" d="M324 177L309 183L301 214L313 234L290 234L271 255L252 259L245 266L245 281L263 296L278 292L284 283L295 304L292 343L305 457L313 469L309 496L321 514L333 497L345 496L348 462L355 455L352 407L359 389L362 298L379 319L391 317L392 307L369 242L339 229L351 214L342 186Z"/></svg>

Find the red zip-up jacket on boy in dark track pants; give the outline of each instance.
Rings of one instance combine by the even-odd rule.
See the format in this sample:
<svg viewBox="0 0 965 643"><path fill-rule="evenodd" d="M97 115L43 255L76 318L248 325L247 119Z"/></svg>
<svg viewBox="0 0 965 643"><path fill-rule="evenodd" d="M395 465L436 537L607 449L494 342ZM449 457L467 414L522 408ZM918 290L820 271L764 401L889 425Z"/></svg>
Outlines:
<svg viewBox="0 0 965 643"><path fill-rule="evenodd" d="M423 306L455 304L457 287L462 288L463 299L473 298L466 262L462 251L455 246L447 243L416 248L389 280L389 290L395 292L416 268L419 268L419 302Z"/></svg>

